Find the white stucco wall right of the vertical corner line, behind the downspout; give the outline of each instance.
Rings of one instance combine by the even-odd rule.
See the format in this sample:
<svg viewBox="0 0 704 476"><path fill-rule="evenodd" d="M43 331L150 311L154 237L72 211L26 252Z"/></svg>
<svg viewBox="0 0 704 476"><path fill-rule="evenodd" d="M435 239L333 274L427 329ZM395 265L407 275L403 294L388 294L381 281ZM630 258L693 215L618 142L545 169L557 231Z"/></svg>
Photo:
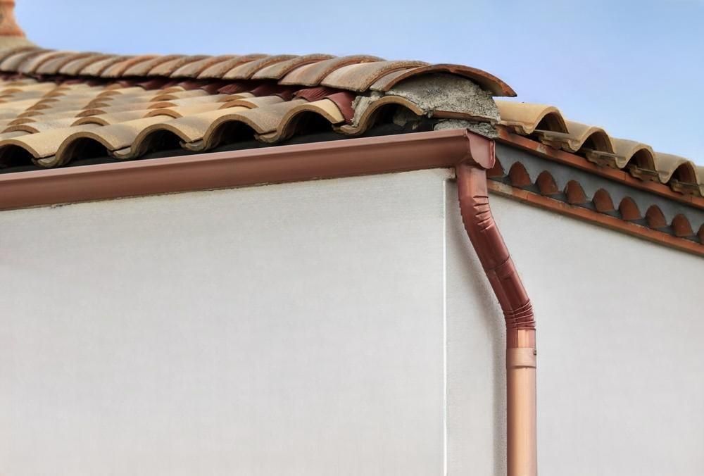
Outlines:
<svg viewBox="0 0 704 476"><path fill-rule="evenodd" d="M472 461L453 459L455 474L470 474L492 451L475 430L492 432L498 476L505 332L455 194L448 184L451 435L458 426L449 451L473 453ZM704 260L500 196L491 203L536 313L539 474L701 475ZM480 391L482 383L493 393ZM477 474L491 470L482 465Z"/></svg>

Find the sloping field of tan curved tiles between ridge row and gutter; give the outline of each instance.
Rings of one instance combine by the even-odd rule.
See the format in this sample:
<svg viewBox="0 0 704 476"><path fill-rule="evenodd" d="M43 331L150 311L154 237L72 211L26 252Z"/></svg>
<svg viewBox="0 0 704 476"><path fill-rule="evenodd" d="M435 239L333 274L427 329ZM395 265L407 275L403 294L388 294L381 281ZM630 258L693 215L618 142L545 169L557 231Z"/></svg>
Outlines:
<svg viewBox="0 0 704 476"><path fill-rule="evenodd" d="M56 167L84 155L88 142L102 147L103 155L120 159L164 149L165 141L189 151L244 137L279 142L310 120L354 135L371 127L385 106L427 113L408 99L385 96L353 125L356 95L340 89L266 84L248 89L232 83L210 94L186 86L150 90L143 84L0 81L0 164L16 165L26 157L42 167Z"/></svg>

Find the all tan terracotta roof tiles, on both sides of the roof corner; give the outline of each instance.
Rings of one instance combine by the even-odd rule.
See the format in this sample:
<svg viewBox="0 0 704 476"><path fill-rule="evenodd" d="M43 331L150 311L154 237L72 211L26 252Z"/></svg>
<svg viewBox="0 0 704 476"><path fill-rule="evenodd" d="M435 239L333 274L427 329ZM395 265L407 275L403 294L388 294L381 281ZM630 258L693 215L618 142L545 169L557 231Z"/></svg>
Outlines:
<svg viewBox="0 0 704 476"><path fill-rule="evenodd" d="M224 129L277 142L291 137L310 115L337 132L356 135L373 125L385 106L491 122L474 111L429 111L418 98L394 90L425 75L465 78L491 94L515 95L482 70L365 55L118 56L24 46L0 51L0 72L6 75L0 83L0 163L14 163L19 148L44 167L70 161L81 152L75 143L86 140L117 158L158 149L164 134L177 138L168 144L190 151L218 146ZM358 94L379 95L356 111ZM686 158L566 120L553 106L496 105L503 126L517 134L704 196L704 169Z"/></svg>

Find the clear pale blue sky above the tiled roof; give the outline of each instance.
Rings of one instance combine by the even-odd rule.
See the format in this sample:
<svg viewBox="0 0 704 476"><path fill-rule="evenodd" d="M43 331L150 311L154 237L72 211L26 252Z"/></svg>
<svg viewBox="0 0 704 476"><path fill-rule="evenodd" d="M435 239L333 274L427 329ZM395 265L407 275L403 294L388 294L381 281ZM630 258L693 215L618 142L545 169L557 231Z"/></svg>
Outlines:
<svg viewBox="0 0 704 476"><path fill-rule="evenodd" d="M704 0L17 0L16 14L56 49L461 63L704 165Z"/></svg>

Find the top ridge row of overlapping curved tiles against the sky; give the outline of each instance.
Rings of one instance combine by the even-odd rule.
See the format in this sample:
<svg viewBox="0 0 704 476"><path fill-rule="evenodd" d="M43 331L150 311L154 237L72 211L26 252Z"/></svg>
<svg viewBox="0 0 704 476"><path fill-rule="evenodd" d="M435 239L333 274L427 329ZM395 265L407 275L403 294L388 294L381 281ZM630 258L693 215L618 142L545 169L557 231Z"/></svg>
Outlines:
<svg viewBox="0 0 704 476"><path fill-rule="evenodd" d="M467 77L497 96L515 96L508 84L476 68L429 65L422 61L384 61L376 56L363 55L118 56L30 46L0 52L0 71L32 76L277 80L279 84L323 85L355 92L367 89L385 92L411 76L451 73Z"/></svg>

